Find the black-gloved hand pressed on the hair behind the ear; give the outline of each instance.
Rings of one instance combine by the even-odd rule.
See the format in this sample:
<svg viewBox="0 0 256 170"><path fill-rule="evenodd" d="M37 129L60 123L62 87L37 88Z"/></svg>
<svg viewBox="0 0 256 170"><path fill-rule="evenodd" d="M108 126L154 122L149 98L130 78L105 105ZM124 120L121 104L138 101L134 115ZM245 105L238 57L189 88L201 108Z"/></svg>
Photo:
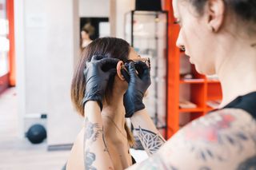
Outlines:
<svg viewBox="0 0 256 170"><path fill-rule="evenodd" d="M102 59L102 56L94 56L90 62L86 62L86 69L84 69L86 92L82 100L83 105L86 104L86 101L98 101L98 105L102 110L102 100L106 85L110 77L117 72L117 64L117 58Z"/></svg>

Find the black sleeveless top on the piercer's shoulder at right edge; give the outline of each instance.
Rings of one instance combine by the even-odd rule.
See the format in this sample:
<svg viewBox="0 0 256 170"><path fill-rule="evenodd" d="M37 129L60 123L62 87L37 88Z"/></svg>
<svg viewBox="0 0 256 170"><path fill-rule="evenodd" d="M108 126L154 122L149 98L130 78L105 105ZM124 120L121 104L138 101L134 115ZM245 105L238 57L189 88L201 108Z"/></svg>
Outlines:
<svg viewBox="0 0 256 170"><path fill-rule="evenodd" d="M223 109L234 108L243 109L256 120L256 92L248 93L244 96L237 97Z"/></svg>

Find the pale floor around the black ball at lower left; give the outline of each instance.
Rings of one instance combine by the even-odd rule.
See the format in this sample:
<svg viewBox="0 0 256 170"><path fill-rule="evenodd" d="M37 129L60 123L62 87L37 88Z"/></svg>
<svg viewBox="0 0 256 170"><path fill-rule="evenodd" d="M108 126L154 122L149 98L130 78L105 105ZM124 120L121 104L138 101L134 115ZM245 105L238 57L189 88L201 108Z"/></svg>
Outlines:
<svg viewBox="0 0 256 170"><path fill-rule="evenodd" d="M17 94L15 88L0 95L0 170L60 170L70 151L47 151L46 141L30 144L18 136ZM137 162L146 159L145 151L131 149Z"/></svg>

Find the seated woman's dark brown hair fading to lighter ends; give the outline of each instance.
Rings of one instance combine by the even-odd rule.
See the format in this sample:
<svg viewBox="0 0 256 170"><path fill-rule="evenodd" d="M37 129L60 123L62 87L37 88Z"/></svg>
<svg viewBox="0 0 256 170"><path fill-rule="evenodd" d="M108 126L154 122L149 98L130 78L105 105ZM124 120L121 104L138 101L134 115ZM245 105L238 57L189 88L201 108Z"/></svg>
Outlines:
<svg viewBox="0 0 256 170"><path fill-rule="evenodd" d="M84 116L82 99L86 91L86 80L83 71L86 69L86 61L90 61L94 55L99 55L102 57L118 58L119 60L126 62L129 53L129 43L120 38L98 38L86 46L82 52L82 57L80 57L80 60L78 61L71 84L71 100L80 115ZM105 94L106 102L108 102L109 97L111 97L113 85L114 77L110 77ZM125 129L129 143L134 144L134 138L126 125Z"/></svg>

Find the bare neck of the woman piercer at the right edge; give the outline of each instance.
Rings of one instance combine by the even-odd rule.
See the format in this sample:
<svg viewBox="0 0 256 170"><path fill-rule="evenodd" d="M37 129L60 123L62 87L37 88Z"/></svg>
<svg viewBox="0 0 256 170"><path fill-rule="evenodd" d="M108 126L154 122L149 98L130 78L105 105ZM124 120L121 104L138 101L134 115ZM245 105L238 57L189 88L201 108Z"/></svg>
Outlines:
<svg viewBox="0 0 256 170"><path fill-rule="evenodd" d="M217 74L222 84L223 107L236 97L256 91L256 47L254 42L234 40L226 53L222 64L218 65ZM223 51L222 51L223 52Z"/></svg>

